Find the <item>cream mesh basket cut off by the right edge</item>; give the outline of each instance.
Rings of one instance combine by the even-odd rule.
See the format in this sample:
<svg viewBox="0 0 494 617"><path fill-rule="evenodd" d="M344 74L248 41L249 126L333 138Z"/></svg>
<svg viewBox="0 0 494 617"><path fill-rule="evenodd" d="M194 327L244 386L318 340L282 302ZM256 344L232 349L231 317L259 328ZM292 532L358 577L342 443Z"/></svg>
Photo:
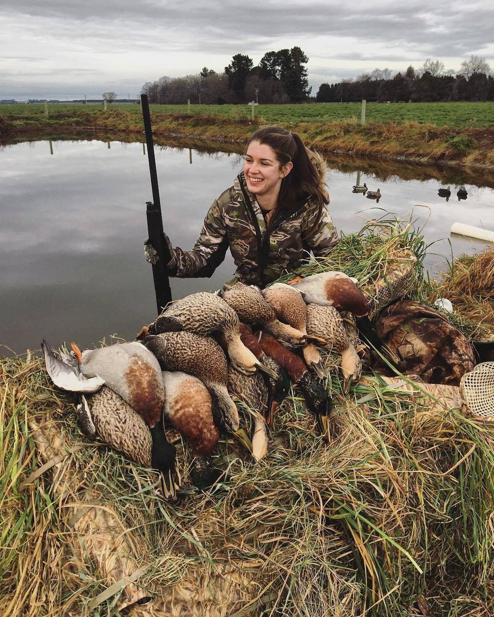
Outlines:
<svg viewBox="0 0 494 617"><path fill-rule="evenodd" d="M476 416L494 420L494 362L482 362L461 378L460 392Z"/></svg>

